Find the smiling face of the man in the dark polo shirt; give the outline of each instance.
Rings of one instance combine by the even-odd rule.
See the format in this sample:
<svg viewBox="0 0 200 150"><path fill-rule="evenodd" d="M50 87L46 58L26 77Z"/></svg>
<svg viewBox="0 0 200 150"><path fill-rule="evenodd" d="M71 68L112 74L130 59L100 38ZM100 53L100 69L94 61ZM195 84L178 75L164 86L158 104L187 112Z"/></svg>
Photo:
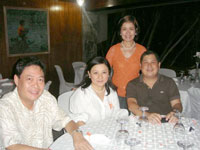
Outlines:
<svg viewBox="0 0 200 150"><path fill-rule="evenodd" d="M144 56L141 62L141 70L144 78L156 78L160 68L160 63L154 54Z"/></svg>

